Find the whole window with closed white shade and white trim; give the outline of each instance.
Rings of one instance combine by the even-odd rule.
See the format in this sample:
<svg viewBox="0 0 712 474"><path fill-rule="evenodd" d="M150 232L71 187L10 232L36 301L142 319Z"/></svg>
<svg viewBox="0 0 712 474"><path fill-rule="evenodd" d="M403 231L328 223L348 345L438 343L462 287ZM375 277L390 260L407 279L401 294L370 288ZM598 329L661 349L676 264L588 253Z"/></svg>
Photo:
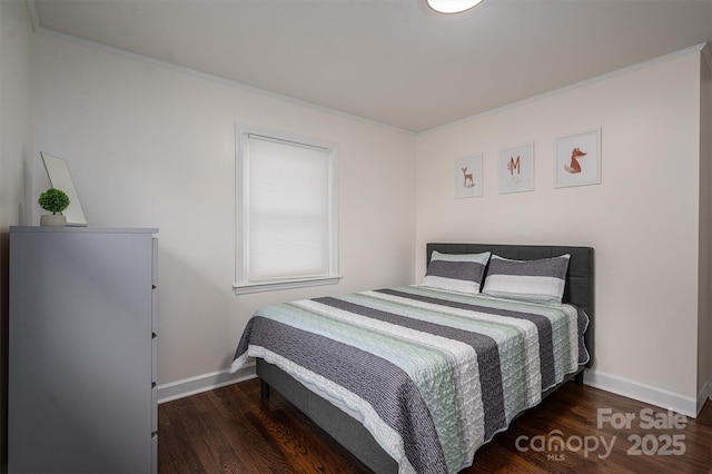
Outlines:
<svg viewBox="0 0 712 474"><path fill-rule="evenodd" d="M338 283L338 148L238 128L235 293Z"/></svg>

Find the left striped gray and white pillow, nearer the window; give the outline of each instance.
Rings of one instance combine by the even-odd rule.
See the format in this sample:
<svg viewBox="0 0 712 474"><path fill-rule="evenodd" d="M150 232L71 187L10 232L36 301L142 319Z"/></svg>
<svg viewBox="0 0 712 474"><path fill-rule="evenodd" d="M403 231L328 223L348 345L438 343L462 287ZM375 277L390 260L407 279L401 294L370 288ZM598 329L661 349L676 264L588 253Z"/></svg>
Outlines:
<svg viewBox="0 0 712 474"><path fill-rule="evenodd" d="M488 251L455 255L433 250L423 286L476 295L488 259Z"/></svg>

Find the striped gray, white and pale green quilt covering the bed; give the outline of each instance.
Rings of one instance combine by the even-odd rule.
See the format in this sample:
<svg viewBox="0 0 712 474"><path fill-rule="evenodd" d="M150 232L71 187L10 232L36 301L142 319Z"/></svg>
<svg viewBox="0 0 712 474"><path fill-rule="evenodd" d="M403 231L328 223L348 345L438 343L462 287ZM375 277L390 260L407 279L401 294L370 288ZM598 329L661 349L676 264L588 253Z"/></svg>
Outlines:
<svg viewBox="0 0 712 474"><path fill-rule="evenodd" d="M570 305L379 289L259 309L231 372L263 357L358 414L399 472L455 473L587 362L586 326Z"/></svg>

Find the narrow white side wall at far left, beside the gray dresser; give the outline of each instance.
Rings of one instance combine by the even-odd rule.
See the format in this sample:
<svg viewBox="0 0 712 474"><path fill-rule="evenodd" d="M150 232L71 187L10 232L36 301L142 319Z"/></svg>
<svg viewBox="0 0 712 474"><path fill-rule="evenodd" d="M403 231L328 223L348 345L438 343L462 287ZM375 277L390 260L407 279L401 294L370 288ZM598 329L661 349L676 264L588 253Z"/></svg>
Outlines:
<svg viewBox="0 0 712 474"><path fill-rule="evenodd" d="M7 471L8 227L22 223L29 179L32 38L26 2L0 1L0 472Z"/></svg>

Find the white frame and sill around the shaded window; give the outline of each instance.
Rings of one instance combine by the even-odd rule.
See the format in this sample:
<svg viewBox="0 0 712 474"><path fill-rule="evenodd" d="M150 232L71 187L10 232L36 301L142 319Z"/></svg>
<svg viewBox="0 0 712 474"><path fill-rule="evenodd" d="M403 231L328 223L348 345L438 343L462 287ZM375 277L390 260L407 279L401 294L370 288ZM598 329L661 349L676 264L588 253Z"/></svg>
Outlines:
<svg viewBox="0 0 712 474"><path fill-rule="evenodd" d="M236 126L236 190L235 190L235 283L236 295L273 292L307 286L334 285L342 276L338 265L338 146L328 141L277 132L257 127ZM269 141L328 152L328 274L287 279L249 279L249 138L256 136Z"/></svg>

